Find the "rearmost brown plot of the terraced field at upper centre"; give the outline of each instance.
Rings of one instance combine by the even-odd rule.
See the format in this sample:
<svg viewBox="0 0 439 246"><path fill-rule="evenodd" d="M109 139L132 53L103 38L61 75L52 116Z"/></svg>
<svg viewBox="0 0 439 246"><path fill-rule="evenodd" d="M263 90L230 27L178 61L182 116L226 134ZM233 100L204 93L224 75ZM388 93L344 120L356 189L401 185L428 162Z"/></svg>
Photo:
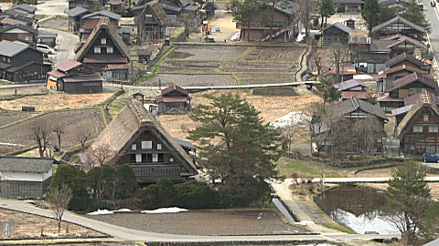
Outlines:
<svg viewBox="0 0 439 246"><path fill-rule="evenodd" d="M178 46L168 59L192 61L235 61L247 47L239 46Z"/></svg>

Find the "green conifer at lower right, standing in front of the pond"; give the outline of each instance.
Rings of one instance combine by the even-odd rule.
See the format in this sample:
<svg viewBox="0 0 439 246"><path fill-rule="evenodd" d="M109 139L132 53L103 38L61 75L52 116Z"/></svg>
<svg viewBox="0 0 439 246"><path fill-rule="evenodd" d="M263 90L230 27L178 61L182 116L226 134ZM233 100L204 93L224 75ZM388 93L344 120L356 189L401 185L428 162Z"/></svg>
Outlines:
<svg viewBox="0 0 439 246"><path fill-rule="evenodd" d="M425 215L430 210L432 196L425 181L423 167L406 161L391 174L385 210L389 220L401 231L407 244L412 244L425 228Z"/></svg>

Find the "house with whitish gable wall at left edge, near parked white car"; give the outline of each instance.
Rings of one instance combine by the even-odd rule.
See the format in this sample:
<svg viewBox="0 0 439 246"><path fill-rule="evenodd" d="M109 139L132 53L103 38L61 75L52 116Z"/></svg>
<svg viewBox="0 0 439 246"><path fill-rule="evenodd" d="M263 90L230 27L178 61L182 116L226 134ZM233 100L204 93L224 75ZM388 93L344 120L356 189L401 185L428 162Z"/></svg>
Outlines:
<svg viewBox="0 0 439 246"><path fill-rule="evenodd" d="M38 31L29 26L23 26L17 24L15 26L6 26L0 30L0 39L15 41L23 40L27 43L36 44L37 43Z"/></svg>

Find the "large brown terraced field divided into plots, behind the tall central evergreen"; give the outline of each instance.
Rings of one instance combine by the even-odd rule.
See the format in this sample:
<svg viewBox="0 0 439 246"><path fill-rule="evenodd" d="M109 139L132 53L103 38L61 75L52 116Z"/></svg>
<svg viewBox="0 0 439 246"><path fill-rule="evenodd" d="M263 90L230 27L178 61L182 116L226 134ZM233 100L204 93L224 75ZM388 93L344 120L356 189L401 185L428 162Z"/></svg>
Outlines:
<svg viewBox="0 0 439 246"><path fill-rule="evenodd" d="M165 86L229 86L294 82L305 48L270 46L178 46L157 77L142 83Z"/></svg>

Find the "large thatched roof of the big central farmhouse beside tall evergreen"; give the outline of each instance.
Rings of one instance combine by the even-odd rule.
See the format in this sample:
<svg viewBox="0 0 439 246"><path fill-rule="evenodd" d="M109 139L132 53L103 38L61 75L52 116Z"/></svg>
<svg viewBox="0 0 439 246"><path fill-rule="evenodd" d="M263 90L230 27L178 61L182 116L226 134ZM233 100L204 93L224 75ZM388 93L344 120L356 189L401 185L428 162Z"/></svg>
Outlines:
<svg viewBox="0 0 439 246"><path fill-rule="evenodd" d="M198 173L192 159L187 156L186 151L175 138L172 138L153 114L135 99L127 102L117 117L112 119L110 125L87 149L87 153L91 153L94 149L105 148L108 149L109 159L117 159L119 154L123 154L131 147L132 140L145 130L160 138L170 154L185 166L190 175Z"/></svg>

